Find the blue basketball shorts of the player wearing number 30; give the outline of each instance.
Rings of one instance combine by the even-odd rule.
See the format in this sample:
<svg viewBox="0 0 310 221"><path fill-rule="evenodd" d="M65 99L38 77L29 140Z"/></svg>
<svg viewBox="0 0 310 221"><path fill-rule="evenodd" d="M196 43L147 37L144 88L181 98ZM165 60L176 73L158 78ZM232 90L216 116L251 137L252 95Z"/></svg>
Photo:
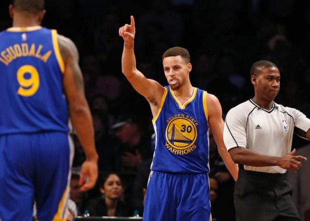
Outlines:
<svg viewBox="0 0 310 221"><path fill-rule="evenodd" d="M151 171L148 179L143 221L210 220L207 173Z"/></svg>

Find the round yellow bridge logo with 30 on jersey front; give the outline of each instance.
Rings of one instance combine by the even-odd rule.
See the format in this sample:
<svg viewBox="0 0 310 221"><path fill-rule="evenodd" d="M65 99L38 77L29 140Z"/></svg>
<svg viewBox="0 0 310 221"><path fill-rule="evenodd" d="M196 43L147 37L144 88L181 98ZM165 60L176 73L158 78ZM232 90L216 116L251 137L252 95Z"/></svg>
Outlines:
<svg viewBox="0 0 310 221"><path fill-rule="evenodd" d="M166 148L175 154L187 154L196 148L198 122L185 114L174 114L167 119Z"/></svg>

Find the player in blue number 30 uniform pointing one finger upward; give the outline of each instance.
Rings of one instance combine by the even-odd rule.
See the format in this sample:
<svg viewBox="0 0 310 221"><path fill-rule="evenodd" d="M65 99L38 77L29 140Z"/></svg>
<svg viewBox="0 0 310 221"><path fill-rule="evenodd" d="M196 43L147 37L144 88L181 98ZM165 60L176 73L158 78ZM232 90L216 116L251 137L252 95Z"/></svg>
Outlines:
<svg viewBox="0 0 310 221"><path fill-rule="evenodd" d="M156 135L143 220L210 220L208 133L234 179L237 166L222 139L222 110L218 99L193 87L185 48L172 47L162 56L168 85L147 79L136 69L133 50L134 19L119 28L124 40L122 72L149 102Z"/></svg>

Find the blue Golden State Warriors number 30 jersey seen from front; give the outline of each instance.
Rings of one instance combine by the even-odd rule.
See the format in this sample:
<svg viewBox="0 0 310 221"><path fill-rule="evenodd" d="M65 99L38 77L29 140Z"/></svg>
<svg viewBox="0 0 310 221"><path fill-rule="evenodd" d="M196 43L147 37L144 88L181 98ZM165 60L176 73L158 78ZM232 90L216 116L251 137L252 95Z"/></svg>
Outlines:
<svg viewBox="0 0 310 221"><path fill-rule="evenodd" d="M159 111L153 118L156 135L151 169L162 172L209 172L206 91L194 87L183 105L165 86Z"/></svg>

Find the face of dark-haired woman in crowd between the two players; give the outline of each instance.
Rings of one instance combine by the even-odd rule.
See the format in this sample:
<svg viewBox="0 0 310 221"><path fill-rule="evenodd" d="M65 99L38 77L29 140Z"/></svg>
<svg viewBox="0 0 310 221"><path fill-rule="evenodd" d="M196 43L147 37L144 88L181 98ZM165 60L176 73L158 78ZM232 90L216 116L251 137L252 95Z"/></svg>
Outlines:
<svg viewBox="0 0 310 221"><path fill-rule="evenodd" d="M117 199L123 193L123 187L118 175L110 174L100 188L100 191L106 198Z"/></svg>

